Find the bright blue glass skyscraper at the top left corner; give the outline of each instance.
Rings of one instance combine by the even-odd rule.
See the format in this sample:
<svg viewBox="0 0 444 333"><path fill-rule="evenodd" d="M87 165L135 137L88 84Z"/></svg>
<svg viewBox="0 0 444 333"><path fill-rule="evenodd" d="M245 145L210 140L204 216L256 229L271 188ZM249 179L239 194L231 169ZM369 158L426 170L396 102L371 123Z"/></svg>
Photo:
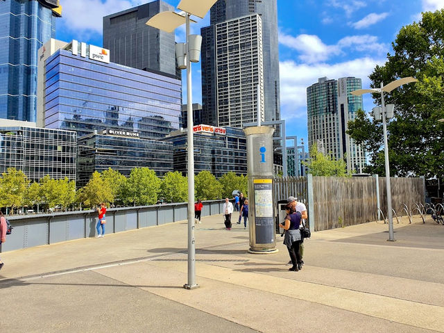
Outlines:
<svg viewBox="0 0 444 333"><path fill-rule="evenodd" d="M58 0L0 1L0 118L35 122L37 50L61 13Z"/></svg>

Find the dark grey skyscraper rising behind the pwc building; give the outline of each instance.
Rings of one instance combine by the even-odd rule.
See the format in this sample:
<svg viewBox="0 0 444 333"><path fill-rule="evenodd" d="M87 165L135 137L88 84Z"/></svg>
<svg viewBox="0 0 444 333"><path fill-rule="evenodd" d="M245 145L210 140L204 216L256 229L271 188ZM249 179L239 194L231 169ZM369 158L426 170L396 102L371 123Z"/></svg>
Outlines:
<svg viewBox="0 0 444 333"><path fill-rule="evenodd" d="M174 33L146 25L148 19L166 10L173 11L174 7L157 0L103 17L103 47L110 50L110 61L180 79Z"/></svg>

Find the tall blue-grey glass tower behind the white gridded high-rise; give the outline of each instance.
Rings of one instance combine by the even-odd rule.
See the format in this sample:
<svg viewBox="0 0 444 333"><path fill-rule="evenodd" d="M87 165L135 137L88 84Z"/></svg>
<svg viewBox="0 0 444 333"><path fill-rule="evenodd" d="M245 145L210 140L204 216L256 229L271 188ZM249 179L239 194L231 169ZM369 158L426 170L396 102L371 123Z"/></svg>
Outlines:
<svg viewBox="0 0 444 333"><path fill-rule="evenodd" d="M264 120L280 120L280 81L279 81L279 45L278 45L278 12L277 0L219 0L210 11L210 24L216 25L239 17L256 14L260 17L262 25L262 61L263 61L263 86L264 86ZM219 77L219 67L216 67L215 58L217 56L217 45L223 43L228 47L236 47L239 42L234 39L230 43L230 34L234 33L228 29L225 32L217 33L211 26L201 29L202 41L202 95L203 112L210 115L218 110L216 104L217 92L219 88L217 79ZM241 31L242 34L242 31ZM220 45L220 44L219 44ZM214 71L216 68L216 71ZM240 69L239 69L240 71ZM239 76L240 76L239 72ZM257 99L256 95L242 95L244 99ZM205 117L205 115L204 115ZM221 124L219 124L221 125Z"/></svg>

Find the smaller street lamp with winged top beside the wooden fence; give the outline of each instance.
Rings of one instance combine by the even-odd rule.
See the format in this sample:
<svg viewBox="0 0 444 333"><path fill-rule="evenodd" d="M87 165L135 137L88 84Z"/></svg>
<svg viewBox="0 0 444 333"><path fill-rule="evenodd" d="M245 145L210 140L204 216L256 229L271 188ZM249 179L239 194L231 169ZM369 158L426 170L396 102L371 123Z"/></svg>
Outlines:
<svg viewBox="0 0 444 333"><path fill-rule="evenodd" d="M366 92L371 92L373 94L381 94L381 106L382 106L382 128L384 130L384 155L386 164L386 190L387 190L387 218L388 218L388 241L395 241L395 235L393 232L393 213L391 210L391 186L390 186L390 165L388 162L388 145L387 145L387 124L386 124L386 106L384 103L384 92L391 92L393 89L398 88L406 83L417 82L418 79L413 77L404 77L388 83L384 86L381 82L381 88L371 88L371 89L358 89L352 91L352 95L361 96Z"/></svg>

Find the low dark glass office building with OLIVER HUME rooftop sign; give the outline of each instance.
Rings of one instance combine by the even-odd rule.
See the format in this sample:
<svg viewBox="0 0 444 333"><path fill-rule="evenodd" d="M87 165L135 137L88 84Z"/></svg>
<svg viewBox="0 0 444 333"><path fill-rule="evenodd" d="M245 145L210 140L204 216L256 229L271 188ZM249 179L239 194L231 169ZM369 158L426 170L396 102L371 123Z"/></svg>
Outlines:
<svg viewBox="0 0 444 333"><path fill-rule="evenodd" d="M108 130L78 140L77 186L85 186L94 171L112 168L129 176L133 168L150 168L157 176L173 171L173 144L132 136L137 132Z"/></svg>

